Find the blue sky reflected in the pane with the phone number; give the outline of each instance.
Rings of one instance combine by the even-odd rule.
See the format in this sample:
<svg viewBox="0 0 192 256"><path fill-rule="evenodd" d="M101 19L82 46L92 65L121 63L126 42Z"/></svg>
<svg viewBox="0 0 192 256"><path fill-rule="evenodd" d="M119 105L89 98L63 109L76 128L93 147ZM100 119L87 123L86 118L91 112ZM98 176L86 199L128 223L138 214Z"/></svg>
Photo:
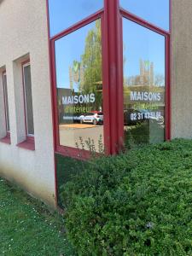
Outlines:
<svg viewBox="0 0 192 256"><path fill-rule="evenodd" d="M124 72L126 77L140 72L139 61L154 62L154 73L165 76L165 38L131 20L123 19Z"/></svg>

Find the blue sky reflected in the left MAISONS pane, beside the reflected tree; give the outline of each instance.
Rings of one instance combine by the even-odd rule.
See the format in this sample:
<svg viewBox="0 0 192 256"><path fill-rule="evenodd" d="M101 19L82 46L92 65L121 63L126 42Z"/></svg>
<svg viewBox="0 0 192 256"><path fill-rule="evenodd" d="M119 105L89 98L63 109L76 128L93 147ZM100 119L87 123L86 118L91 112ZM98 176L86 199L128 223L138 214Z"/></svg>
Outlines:
<svg viewBox="0 0 192 256"><path fill-rule="evenodd" d="M57 88L70 88L69 67L73 61L81 61L84 54L85 38L88 32L96 27L92 22L79 30L55 41L55 65ZM74 84L74 90L78 91L79 84Z"/></svg>

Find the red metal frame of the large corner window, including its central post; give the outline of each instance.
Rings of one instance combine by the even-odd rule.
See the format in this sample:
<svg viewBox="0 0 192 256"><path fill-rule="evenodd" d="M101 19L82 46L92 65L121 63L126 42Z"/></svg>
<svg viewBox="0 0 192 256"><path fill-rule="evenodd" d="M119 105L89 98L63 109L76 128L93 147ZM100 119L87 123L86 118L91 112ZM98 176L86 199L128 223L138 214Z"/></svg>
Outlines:
<svg viewBox="0 0 192 256"><path fill-rule="evenodd" d="M171 0L170 2L170 31L171 31ZM47 0L47 15L49 27L49 3ZM54 37L49 38L49 60L50 60L50 79L52 92L52 112L54 120L54 141L55 153L67 155L77 159L88 159L90 153L82 152L77 148L64 147L59 144L58 115L56 99L56 78L55 78L55 40L74 32L82 26L101 18L102 20L102 79L103 79L103 112L104 112L104 144L107 154L117 154L123 147L124 142L124 117L123 117L123 35L122 18L134 21L140 26L147 27L149 30L159 33L165 37L166 41L166 108L165 140L171 138L171 32L167 32L137 15L132 15L127 10L120 8L119 0L104 0L104 9L97 11L84 20L70 26Z"/></svg>

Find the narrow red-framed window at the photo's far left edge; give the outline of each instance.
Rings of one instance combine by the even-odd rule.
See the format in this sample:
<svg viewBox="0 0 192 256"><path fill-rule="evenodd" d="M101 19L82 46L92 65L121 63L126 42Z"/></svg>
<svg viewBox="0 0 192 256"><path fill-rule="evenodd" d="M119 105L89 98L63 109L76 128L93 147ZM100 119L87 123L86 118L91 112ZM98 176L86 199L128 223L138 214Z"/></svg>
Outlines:
<svg viewBox="0 0 192 256"><path fill-rule="evenodd" d="M3 72L3 96L4 96L6 132L7 132L7 136L9 136L9 134L10 134L9 101L8 101L8 85L7 85L7 74L6 74L6 72Z"/></svg>

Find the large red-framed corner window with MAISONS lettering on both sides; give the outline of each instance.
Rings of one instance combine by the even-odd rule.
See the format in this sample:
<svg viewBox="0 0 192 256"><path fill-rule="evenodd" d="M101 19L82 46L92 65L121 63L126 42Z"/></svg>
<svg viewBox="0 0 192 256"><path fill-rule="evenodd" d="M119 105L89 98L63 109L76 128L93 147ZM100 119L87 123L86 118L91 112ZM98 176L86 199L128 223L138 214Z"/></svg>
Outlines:
<svg viewBox="0 0 192 256"><path fill-rule="evenodd" d="M55 152L169 139L170 1L48 2Z"/></svg>

